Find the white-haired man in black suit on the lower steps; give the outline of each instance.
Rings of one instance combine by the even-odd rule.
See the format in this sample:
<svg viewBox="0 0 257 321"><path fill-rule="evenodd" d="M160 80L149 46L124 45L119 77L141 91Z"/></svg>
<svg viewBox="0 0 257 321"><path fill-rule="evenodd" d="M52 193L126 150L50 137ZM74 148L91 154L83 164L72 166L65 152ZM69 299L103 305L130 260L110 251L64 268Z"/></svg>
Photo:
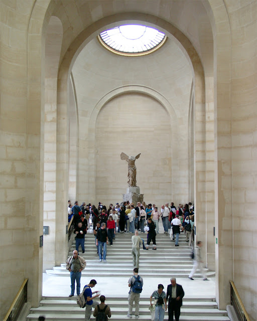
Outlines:
<svg viewBox="0 0 257 321"><path fill-rule="evenodd" d="M168 312L169 321L173 321L173 314L175 320L179 321L180 307L182 305L182 298L185 295L183 287L176 283L176 278L171 278L171 284L167 287L166 299L169 302Z"/></svg>

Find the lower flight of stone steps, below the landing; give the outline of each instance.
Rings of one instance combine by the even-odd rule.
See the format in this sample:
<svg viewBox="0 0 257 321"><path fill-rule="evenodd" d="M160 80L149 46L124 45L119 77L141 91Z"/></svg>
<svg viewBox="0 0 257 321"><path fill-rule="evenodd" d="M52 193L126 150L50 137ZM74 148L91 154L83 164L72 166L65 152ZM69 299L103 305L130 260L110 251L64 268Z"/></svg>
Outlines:
<svg viewBox="0 0 257 321"><path fill-rule="evenodd" d="M111 297L107 302L111 307L111 320L128 320L127 297ZM140 298L140 320L151 320L149 307L149 297ZM36 321L39 315L45 315L47 321L63 320L84 320L85 309L79 308L76 303L76 297L43 297L38 308L31 308L27 320ZM168 312L165 312L167 320ZM91 315L91 319L95 318ZM229 321L227 311L221 311L217 308L217 303L213 297L183 299L180 321Z"/></svg>

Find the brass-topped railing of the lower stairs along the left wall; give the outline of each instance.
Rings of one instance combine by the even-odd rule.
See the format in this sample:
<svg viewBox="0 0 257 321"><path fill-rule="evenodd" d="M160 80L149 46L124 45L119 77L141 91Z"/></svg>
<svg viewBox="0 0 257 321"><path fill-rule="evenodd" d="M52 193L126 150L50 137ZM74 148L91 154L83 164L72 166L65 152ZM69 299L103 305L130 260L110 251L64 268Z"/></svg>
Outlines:
<svg viewBox="0 0 257 321"><path fill-rule="evenodd" d="M17 320L24 303L27 302L28 299L28 280L25 279L25 281L22 283L22 286L20 290L18 291L12 305L10 306L10 309L8 310L4 321L15 321Z"/></svg>

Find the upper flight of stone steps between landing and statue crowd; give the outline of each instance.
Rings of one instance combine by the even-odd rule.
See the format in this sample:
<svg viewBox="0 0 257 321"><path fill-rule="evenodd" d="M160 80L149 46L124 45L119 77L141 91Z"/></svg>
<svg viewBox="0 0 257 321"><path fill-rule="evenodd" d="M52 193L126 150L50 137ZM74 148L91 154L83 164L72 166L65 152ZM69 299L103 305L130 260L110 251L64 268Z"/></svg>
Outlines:
<svg viewBox="0 0 257 321"><path fill-rule="evenodd" d="M140 236L147 240L147 234L140 233ZM113 246L107 246L107 262L99 262L95 247L95 239L92 233L88 233L85 238L85 253L81 253L79 248L79 255L86 260L86 268L82 271L82 275L97 275L109 276L113 270L118 270L118 276L131 276L133 271L133 262L131 254L131 233L116 233ZM175 247L175 241L171 240L169 235L158 234L156 237L157 251L152 250L152 245L149 250L140 251L140 275L142 277L155 277L158 269L158 274L163 277L188 277L192 268L192 259L190 258L191 250L186 243L184 233L180 234L179 245ZM75 250L75 241L71 246L69 255L72 255ZM161 262L161 264L160 264ZM208 271L207 277L214 276L215 272ZM46 270L48 275L54 276L70 276L69 271L66 270L66 264L55 266L53 270ZM194 277L201 277L196 273Z"/></svg>

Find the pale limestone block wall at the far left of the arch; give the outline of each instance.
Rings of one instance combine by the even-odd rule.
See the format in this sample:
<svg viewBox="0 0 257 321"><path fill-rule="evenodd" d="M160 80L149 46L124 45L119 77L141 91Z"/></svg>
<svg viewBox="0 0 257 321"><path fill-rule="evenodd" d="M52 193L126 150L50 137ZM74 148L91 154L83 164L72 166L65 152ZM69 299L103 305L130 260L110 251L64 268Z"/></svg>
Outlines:
<svg viewBox="0 0 257 321"><path fill-rule="evenodd" d="M29 56L27 50L32 38L36 46L40 33L37 19L29 24L32 8L32 2L0 2L1 319L25 278L30 279L32 304L38 303L42 284L44 119L37 69L41 47L34 47Z"/></svg>

